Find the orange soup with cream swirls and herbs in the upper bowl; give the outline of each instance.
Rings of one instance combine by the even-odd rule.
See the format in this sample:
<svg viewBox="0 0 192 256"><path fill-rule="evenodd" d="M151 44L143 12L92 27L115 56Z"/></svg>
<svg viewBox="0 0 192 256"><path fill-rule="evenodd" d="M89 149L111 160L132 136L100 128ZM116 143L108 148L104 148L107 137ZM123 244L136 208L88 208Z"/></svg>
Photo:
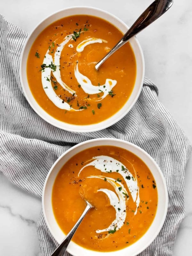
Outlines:
<svg viewBox="0 0 192 256"><path fill-rule="evenodd" d="M77 125L99 123L129 99L136 60L126 43L98 71L95 64L122 32L106 20L76 15L57 20L33 43L27 60L30 90L54 118Z"/></svg>

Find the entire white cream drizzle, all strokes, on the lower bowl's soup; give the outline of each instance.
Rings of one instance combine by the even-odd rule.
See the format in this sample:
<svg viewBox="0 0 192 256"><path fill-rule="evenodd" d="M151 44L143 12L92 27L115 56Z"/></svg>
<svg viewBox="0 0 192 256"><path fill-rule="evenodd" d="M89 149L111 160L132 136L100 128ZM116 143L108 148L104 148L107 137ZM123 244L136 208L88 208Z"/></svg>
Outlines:
<svg viewBox="0 0 192 256"><path fill-rule="evenodd" d="M139 207L139 204L140 204L139 184L136 178L137 177L136 173L134 178L131 172L126 168L124 164L122 164L121 162L119 162L118 160L110 156L94 156L92 157L92 159L88 160L87 162L89 161L91 162L86 164L84 167L80 169L78 176L87 166L94 166L96 169L105 173L117 172L121 174L124 178L124 181L127 184L127 187L130 191L130 195L132 196L133 201L136 203L135 212L134 212L134 215L135 215L137 213L137 208ZM111 223L111 225L108 228L102 229L102 230L98 229L96 232L100 233L104 231L114 230L114 228L120 229L124 225L124 221L126 218L126 200L128 200L129 198L126 189L121 183L121 180L119 179L115 180L113 178L104 177L100 175L89 176L87 178L98 178L98 179L104 179L108 181L114 187L115 192L118 196L117 197L113 191L110 191L108 189L105 189L105 188L98 189L98 191L102 191L108 196L110 204L116 210L116 219ZM121 189L119 189L120 187Z"/></svg>

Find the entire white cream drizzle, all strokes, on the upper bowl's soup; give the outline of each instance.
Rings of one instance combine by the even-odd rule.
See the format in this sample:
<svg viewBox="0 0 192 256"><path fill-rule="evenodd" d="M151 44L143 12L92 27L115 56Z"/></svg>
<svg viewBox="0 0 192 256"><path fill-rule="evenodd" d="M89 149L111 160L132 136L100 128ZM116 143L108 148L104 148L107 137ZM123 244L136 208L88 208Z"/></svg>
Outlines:
<svg viewBox="0 0 192 256"><path fill-rule="evenodd" d="M65 36L63 42L57 46L55 53L54 53L54 59L52 58L52 55L49 54L48 50L45 54L44 60L43 60L43 64L46 64L46 66L49 66L51 63L53 63L53 65L55 65L55 71L53 72L53 76L55 77L56 81L58 84L60 84L64 90L68 91L70 94L73 94L73 96L77 96L76 95L76 91L72 90L67 84L65 84L63 82L63 80L61 79L61 73L60 73L60 55L61 52L64 48L64 46L66 44L68 44L68 42L70 40L72 40L72 34ZM88 38L84 41L82 41L80 44L77 45L76 50L77 52L82 52L84 50L84 47L87 46L88 44L94 44L94 43L102 43L105 42L107 43L106 40L100 39L100 38ZM68 44L69 47L73 47L73 44ZM55 106L57 106L58 108L61 109L66 109L69 111L79 111L79 110L84 110L84 109L74 109L71 108L70 105L67 102L63 103L63 100L60 99L57 94L54 92L53 88L52 88L52 84L51 84L51 68L44 68L44 71L42 72L41 75L41 80L42 80L42 85L44 88L44 91L47 95L47 97L53 102L53 104L55 104ZM117 81L116 80L112 80L112 79L106 79L105 84L100 85L100 86L95 86L91 83L91 80L84 76L83 74L81 74L79 72L78 69L78 62L75 65L75 77L77 79L77 82L81 85L81 88L84 90L85 93L88 94L99 94L99 93L103 93L103 95L99 98L96 99L96 101L100 101L102 99L104 99L107 95L108 92L110 92L112 90L112 88L116 85ZM48 81L48 79L50 81ZM91 98L89 99L91 100ZM94 99L95 100L95 99Z"/></svg>

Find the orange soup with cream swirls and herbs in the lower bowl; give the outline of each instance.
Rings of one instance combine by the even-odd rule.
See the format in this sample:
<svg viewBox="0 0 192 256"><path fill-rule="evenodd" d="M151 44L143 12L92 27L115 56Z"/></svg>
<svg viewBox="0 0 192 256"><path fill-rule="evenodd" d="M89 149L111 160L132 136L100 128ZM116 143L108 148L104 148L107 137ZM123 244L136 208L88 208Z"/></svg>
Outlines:
<svg viewBox="0 0 192 256"><path fill-rule="evenodd" d="M150 227L157 208L156 182L133 153L114 146L88 148L62 167L52 190L55 218L65 234L91 209L73 241L95 251L116 251L135 243Z"/></svg>

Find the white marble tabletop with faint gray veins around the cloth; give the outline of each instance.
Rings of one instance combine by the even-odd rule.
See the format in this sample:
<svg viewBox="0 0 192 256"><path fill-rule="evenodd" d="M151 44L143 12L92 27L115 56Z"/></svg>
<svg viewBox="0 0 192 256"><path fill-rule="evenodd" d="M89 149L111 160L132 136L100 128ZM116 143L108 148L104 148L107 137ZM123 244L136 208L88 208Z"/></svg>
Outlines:
<svg viewBox="0 0 192 256"><path fill-rule="evenodd" d="M159 100L192 141L192 1L174 0L171 9L137 37L144 52L146 76L159 88ZM5 19L29 33L46 16L69 6L88 5L113 13L132 25L151 0L9 0L1 1ZM192 157L186 168L186 216L180 225L173 256L192 252ZM15 187L0 172L0 255L38 254L38 198Z"/></svg>

